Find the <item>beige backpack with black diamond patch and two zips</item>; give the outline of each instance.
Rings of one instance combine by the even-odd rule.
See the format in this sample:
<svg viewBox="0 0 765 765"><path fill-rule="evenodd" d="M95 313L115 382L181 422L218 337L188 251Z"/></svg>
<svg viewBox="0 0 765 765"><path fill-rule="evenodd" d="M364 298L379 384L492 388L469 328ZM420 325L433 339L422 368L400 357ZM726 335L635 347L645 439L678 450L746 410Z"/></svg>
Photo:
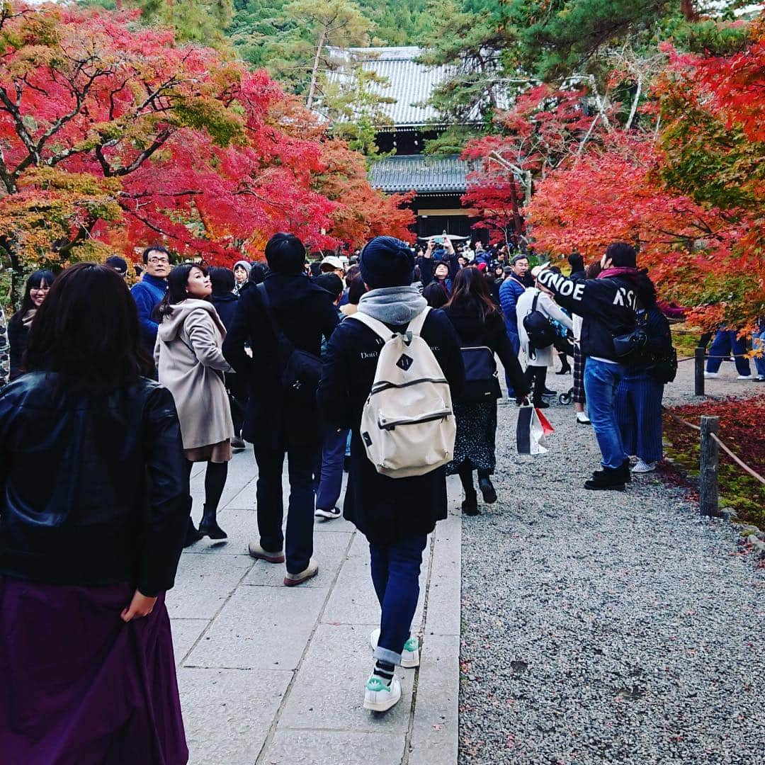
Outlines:
<svg viewBox="0 0 765 765"><path fill-rule="evenodd" d="M449 383L420 337L428 311L412 319L402 334L361 312L349 317L385 343L361 415L361 438L377 472L391 478L430 473L454 456L457 424Z"/></svg>

